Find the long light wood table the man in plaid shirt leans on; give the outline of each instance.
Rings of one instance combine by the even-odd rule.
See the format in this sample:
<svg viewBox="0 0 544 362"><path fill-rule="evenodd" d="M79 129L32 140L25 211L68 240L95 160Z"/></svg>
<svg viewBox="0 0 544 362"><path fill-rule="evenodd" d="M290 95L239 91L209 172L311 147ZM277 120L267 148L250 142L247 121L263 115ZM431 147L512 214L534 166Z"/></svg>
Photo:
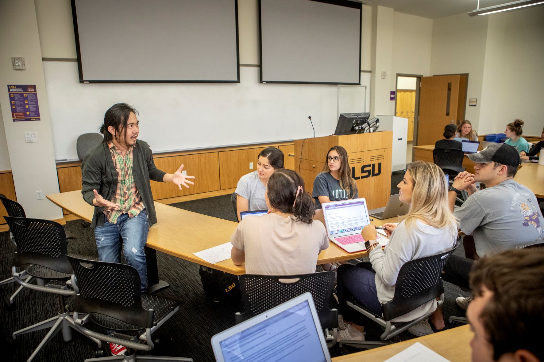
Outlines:
<svg viewBox="0 0 544 362"><path fill-rule="evenodd" d="M47 195L47 199L78 218L88 222L92 219L94 207L83 200L81 190ZM158 223L150 227L146 244L147 277L150 285L158 282L156 256L153 255L156 250L230 274L245 274L245 265L235 265L231 259L211 264L194 255L195 252L230 241L238 223L160 204L159 202L155 202L155 209ZM384 223L396 223L397 221L397 218L391 218L375 220L372 224L382 225ZM366 251L347 253L335 244L330 243L329 248L319 254L317 263L332 263L365 256L368 256Z"/></svg>

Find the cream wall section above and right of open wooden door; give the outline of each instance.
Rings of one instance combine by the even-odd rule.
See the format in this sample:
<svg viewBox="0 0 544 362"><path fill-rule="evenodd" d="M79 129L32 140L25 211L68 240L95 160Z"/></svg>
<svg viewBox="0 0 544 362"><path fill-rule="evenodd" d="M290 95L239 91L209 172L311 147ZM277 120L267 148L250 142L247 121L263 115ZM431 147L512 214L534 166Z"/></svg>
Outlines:
<svg viewBox="0 0 544 362"><path fill-rule="evenodd" d="M479 134L481 86L487 38L487 16L460 14L432 22L431 75L468 73L465 118ZM469 98L477 98L477 106L468 106ZM485 123L485 121L484 121ZM482 124L483 128L486 128Z"/></svg>

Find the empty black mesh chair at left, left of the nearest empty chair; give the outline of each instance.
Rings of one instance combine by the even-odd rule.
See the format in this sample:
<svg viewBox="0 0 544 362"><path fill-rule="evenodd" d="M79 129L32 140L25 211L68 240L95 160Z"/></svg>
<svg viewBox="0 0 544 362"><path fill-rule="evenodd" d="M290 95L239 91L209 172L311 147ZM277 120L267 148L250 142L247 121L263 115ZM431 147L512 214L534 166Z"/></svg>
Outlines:
<svg viewBox="0 0 544 362"><path fill-rule="evenodd" d="M75 328L75 323L70 312L66 310L67 303L64 300L64 297L76 294L74 289L69 288L70 283L66 283L72 276L72 267L66 258L66 236L60 224L50 220L14 217L5 217L5 220L17 240L17 251L13 253L12 263L14 280L24 288L59 295L60 311L57 316L20 329L11 335L15 340L21 334L51 328L28 358L30 361L58 332L63 332L65 341L72 339L70 328ZM17 268L22 265L28 266L23 271L17 271ZM39 278L48 281L48 283L45 285L30 284L28 277ZM35 302L40 302L38 296L36 296ZM91 339L96 342L100 350L102 347L100 340Z"/></svg>

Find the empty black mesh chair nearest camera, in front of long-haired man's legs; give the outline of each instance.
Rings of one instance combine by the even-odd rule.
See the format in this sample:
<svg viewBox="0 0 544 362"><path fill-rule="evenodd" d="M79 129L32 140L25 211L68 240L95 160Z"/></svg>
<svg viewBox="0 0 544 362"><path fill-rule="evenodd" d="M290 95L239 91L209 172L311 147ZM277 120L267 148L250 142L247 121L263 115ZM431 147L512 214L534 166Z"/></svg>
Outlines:
<svg viewBox="0 0 544 362"><path fill-rule="evenodd" d="M138 356L135 350L153 349L152 333L180 307L181 301L141 292L140 276L133 266L68 257L75 275L76 303L73 318L76 328L91 338L127 348L124 355L91 358L85 361L123 360L186 361L191 358ZM81 316L81 313L88 313ZM88 329L83 324L114 331L108 335Z"/></svg>

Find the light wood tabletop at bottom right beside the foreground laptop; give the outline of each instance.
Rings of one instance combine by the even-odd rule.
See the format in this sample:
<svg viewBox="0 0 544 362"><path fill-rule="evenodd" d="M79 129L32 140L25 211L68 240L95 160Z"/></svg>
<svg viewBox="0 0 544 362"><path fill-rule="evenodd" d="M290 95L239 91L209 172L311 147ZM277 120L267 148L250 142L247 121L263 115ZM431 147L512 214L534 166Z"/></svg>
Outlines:
<svg viewBox="0 0 544 362"><path fill-rule="evenodd" d="M472 335L473 333L471 332L469 326L461 326L448 329L447 331L398 342L392 345L373 348L372 350L341 355L332 358L332 360L334 362L382 362L393 357L395 354L404 351L406 348L410 347L416 342L419 342L449 361L465 362L471 360L471 348L469 346L469 342Z"/></svg>

